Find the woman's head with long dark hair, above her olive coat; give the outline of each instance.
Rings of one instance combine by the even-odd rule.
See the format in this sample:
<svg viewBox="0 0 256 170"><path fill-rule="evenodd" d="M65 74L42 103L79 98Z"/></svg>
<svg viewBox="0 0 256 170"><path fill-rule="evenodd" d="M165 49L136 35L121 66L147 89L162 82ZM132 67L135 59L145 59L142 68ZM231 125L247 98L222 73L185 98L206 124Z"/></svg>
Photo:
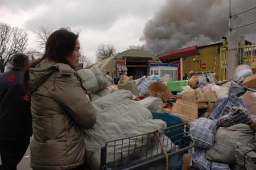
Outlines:
<svg viewBox="0 0 256 170"><path fill-rule="evenodd" d="M65 57L73 53L76 40L78 38L79 35L71 32L69 28L60 28L59 30L54 31L47 39L46 50L43 57L34 61L26 69L24 69L24 88L28 89L28 69L35 67L44 59L48 59L49 61L56 61L56 63L65 63L72 67L72 65L68 63Z"/></svg>

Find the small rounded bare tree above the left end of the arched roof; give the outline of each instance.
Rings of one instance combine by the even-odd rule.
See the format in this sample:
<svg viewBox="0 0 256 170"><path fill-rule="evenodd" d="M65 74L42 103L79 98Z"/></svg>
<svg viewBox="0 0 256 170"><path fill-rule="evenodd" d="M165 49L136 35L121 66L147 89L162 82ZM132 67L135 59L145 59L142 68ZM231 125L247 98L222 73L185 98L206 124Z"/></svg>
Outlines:
<svg viewBox="0 0 256 170"><path fill-rule="evenodd" d="M113 44L100 44L96 51L97 60L104 60L116 54L116 49Z"/></svg>

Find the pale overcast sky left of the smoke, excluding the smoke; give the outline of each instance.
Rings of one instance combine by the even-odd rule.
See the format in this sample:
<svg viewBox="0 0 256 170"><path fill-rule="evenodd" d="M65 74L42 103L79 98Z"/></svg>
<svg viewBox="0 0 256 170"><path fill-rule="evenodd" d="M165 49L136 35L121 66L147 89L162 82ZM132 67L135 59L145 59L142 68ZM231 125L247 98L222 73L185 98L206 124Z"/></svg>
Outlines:
<svg viewBox="0 0 256 170"><path fill-rule="evenodd" d="M82 53L95 57L101 43L117 52L138 45L145 23L164 0L0 0L0 22L25 28L28 47L35 47L33 30L70 27L80 32Z"/></svg>

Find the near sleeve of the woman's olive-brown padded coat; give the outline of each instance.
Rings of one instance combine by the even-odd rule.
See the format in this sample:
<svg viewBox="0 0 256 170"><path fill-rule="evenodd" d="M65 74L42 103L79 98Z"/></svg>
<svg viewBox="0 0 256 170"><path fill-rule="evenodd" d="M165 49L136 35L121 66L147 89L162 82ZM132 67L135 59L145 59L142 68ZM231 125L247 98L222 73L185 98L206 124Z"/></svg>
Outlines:
<svg viewBox="0 0 256 170"><path fill-rule="evenodd" d="M96 122L96 111L85 96L75 75L57 76L51 90L52 97L81 128L92 128Z"/></svg>

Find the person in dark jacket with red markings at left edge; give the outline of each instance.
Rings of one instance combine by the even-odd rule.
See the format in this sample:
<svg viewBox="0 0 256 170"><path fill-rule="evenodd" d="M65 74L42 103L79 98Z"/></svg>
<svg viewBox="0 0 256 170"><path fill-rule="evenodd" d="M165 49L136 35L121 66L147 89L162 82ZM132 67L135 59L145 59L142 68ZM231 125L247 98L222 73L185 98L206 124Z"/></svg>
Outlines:
<svg viewBox="0 0 256 170"><path fill-rule="evenodd" d="M11 71L0 76L0 155L3 170L16 169L30 144L30 99L21 84L22 70L27 65L28 57L16 53Z"/></svg>

